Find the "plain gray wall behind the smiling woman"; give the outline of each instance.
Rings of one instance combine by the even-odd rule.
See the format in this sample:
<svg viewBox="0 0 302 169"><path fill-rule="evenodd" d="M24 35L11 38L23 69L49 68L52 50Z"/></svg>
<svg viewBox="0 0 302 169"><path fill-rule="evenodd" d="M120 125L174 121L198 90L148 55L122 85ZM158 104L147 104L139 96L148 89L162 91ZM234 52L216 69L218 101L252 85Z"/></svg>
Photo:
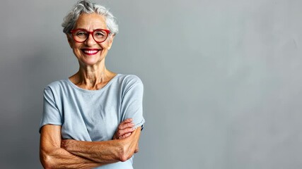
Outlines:
<svg viewBox="0 0 302 169"><path fill-rule="evenodd" d="M302 168L302 1L98 1L120 20L107 58L145 85L135 167ZM0 168L41 168L42 89L78 65L74 1L1 1Z"/></svg>

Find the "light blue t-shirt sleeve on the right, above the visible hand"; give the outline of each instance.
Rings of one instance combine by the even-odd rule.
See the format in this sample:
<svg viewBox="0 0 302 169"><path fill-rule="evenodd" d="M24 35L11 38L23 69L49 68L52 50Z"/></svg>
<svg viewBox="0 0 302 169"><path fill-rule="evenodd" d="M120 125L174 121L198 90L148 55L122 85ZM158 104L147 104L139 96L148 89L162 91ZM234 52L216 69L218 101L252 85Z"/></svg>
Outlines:
<svg viewBox="0 0 302 169"><path fill-rule="evenodd" d="M145 119L143 117L143 94L144 85L141 80L136 80L136 82L129 85L128 89L124 92L122 99L122 120L127 118L132 118L135 128L143 127Z"/></svg>

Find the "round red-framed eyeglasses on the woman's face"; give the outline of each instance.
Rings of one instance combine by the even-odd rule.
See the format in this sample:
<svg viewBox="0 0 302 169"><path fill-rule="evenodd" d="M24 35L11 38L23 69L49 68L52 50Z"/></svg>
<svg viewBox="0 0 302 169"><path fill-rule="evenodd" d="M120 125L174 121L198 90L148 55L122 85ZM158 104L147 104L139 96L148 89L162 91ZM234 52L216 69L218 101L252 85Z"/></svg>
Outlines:
<svg viewBox="0 0 302 169"><path fill-rule="evenodd" d="M74 37L74 40L79 43L85 42L89 35L92 35L95 42L102 43L108 38L109 34L110 30L103 29L93 30L93 32L89 32L85 29L71 30L72 37Z"/></svg>

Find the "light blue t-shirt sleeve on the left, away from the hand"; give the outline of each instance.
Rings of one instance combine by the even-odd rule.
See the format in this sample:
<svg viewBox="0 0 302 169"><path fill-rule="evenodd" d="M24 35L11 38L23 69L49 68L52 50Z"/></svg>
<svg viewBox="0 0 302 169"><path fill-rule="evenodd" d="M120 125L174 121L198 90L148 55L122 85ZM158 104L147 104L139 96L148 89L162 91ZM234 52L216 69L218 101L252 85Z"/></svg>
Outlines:
<svg viewBox="0 0 302 169"><path fill-rule="evenodd" d="M43 113L39 132L43 125L62 125L62 115L56 106L52 89L49 87L44 89Z"/></svg>

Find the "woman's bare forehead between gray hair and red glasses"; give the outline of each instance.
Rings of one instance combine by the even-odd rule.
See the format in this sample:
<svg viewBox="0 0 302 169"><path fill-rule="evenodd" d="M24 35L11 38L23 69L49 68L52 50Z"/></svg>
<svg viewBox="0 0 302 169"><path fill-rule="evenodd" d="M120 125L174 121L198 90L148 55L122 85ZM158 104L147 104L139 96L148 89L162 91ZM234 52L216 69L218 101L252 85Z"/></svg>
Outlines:
<svg viewBox="0 0 302 169"><path fill-rule="evenodd" d="M97 13L81 13L74 25L74 29L79 28L90 31L95 29L107 29L105 17Z"/></svg>

